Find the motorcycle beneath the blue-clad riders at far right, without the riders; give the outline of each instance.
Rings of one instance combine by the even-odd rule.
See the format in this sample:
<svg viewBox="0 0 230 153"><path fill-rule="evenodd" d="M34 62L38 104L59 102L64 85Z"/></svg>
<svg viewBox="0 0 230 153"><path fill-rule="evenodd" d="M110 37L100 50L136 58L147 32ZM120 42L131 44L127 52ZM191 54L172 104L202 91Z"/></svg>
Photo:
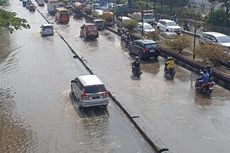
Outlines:
<svg viewBox="0 0 230 153"><path fill-rule="evenodd" d="M195 83L196 91L205 93L208 96L211 95L211 93L212 93L212 91L214 89L214 86L215 86L214 81L209 81L208 83L201 85L201 84L198 83L198 80L196 80L196 83Z"/></svg>

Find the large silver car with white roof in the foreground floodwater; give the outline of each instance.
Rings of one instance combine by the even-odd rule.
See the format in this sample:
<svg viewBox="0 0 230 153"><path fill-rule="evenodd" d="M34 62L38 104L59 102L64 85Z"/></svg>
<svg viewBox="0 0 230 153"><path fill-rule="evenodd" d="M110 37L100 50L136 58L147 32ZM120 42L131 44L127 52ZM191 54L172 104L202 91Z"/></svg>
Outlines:
<svg viewBox="0 0 230 153"><path fill-rule="evenodd" d="M109 93L96 75L81 75L72 80L71 94L77 99L79 108L109 104Z"/></svg>

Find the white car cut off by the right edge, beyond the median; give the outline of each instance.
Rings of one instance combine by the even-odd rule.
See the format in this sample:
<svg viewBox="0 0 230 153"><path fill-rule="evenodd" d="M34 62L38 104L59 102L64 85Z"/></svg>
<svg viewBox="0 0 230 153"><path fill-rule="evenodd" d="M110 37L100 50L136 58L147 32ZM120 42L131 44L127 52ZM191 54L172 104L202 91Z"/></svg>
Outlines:
<svg viewBox="0 0 230 153"><path fill-rule="evenodd" d="M200 36L199 43L217 44L220 47L230 50L230 37L219 32L203 32Z"/></svg>

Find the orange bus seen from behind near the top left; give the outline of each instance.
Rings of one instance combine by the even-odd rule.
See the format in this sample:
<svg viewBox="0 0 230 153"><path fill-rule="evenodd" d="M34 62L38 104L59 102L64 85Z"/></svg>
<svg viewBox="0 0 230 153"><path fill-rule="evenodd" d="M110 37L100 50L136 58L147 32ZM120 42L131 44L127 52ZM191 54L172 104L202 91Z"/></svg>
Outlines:
<svg viewBox="0 0 230 153"><path fill-rule="evenodd" d="M56 21L61 24L69 23L69 11L66 8L59 7L56 8Z"/></svg>

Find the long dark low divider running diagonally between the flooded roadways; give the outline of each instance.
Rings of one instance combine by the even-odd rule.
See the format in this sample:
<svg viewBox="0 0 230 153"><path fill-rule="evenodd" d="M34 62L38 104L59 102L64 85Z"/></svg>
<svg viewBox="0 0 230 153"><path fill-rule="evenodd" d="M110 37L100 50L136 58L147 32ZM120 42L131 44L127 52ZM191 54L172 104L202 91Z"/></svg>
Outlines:
<svg viewBox="0 0 230 153"><path fill-rule="evenodd" d="M48 22L48 19L46 19L46 17L39 11L39 14ZM89 17L88 17L89 18ZM92 18L89 18L92 19ZM74 54L74 58L77 58L82 64L83 66L88 70L88 72L90 74L94 74L93 71L90 69L90 67L85 63L85 60L83 57L80 57L75 51L74 49L69 45L69 43L65 40L65 38L58 32L56 31L56 33L60 36L60 38L65 42L65 44L68 46L68 48L70 49L70 51ZM109 97L115 102L115 104L122 110L122 112L127 116L127 118L131 121L131 123L134 125L134 127L137 129L137 131L141 134L141 136L144 138L144 140L150 145L150 147L155 151L155 153L162 153L165 151L169 151L168 148L164 148L161 147L159 148L158 146L156 146L153 141L147 136L147 134L141 129L141 127L137 124L137 122L134 120L134 118L136 118L136 116L131 116L129 114L129 112L122 106L122 104L116 99L115 96L112 95L112 93L109 91Z"/></svg>

